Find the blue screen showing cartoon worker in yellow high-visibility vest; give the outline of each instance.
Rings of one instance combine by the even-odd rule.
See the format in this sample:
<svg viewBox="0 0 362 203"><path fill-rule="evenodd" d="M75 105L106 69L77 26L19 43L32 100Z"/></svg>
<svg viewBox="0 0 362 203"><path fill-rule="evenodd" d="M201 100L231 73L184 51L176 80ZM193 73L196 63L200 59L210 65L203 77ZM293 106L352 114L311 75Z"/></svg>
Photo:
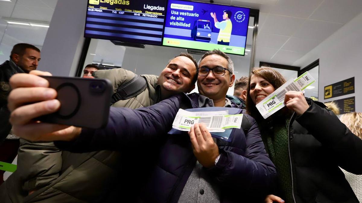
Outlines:
<svg viewBox="0 0 362 203"><path fill-rule="evenodd" d="M249 8L169 0L163 45L244 55Z"/></svg>

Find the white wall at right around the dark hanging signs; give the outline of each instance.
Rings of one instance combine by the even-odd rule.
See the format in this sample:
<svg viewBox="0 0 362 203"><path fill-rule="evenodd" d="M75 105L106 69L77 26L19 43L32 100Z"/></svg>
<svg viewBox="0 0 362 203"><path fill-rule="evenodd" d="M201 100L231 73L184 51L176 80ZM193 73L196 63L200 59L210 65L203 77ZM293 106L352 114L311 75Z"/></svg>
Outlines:
<svg viewBox="0 0 362 203"><path fill-rule="evenodd" d="M355 96L356 111L362 112L362 13L329 36L294 66L305 66L319 59L319 100L332 100ZM351 77L355 82L355 93L324 100L324 86Z"/></svg>

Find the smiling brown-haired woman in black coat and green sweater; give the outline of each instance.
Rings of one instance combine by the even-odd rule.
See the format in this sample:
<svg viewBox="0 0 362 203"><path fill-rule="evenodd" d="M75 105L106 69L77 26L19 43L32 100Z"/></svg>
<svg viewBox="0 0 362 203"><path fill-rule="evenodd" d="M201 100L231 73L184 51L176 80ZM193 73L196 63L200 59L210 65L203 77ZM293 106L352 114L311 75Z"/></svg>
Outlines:
<svg viewBox="0 0 362 203"><path fill-rule="evenodd" d="M265 148L278 170L279 190L265 202L357 203L339 167L362 173L361 163L350 156L362 158L362 141L332 111L302 92L288 91L286 107L266 119L261 117L256 104L285 82L268 67L252 69L249 77L247 110L258 122Z"/></svg>

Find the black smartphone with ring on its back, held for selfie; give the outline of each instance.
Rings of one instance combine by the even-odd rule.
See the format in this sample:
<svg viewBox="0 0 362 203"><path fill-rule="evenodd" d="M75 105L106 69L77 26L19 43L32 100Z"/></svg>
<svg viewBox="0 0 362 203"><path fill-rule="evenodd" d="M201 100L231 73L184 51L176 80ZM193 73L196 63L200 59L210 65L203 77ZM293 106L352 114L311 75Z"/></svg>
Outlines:
<svg viewBox="0 0 362 203"><path fill-rule="evenodd" d="M106 79L41 76L49 81L60 101L57 112L39 121L86 128L102 128L108 122L111 83Z"/></svg>

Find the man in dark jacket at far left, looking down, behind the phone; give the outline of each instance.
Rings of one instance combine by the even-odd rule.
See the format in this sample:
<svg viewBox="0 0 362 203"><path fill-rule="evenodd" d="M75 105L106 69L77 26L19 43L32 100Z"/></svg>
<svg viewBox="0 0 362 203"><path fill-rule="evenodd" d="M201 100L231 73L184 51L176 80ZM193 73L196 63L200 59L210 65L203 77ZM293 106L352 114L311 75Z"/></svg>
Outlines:
<svg viewBox="0 0 362 203"><path fill-rule="evenodd" d="M38 67L40 50L26 43L15 44L10 59L0 65L0 161L11 163L17 155L19 138L10 130L10 113L7 98L10 93L9 79L16 73L29 73ZM0 167L0 184L3 183L4 170Z"/></svg>

